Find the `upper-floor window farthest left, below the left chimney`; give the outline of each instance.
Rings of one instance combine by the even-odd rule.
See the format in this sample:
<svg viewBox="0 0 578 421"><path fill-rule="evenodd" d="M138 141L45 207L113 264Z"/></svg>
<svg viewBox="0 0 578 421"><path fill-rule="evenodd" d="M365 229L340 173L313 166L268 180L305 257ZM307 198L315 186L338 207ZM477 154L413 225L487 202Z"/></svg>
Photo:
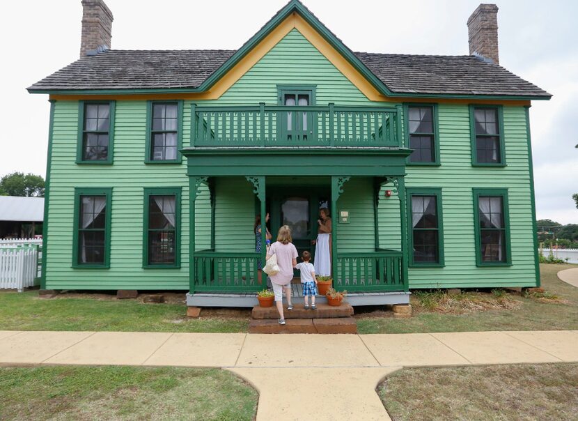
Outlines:
<svg viewBox="0 0 578 421"><path fill-rule="evenodd" d="M79 103L77 162L112 163L114 101Z"/></svg>

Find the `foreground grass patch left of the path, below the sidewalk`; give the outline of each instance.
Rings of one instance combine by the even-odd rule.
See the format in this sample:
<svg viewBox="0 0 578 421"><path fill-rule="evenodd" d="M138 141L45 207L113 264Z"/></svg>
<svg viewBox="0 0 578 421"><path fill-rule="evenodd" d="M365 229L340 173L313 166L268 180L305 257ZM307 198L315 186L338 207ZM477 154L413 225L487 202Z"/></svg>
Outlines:
<svg viewBox="0 0 578 421"><path fill-rule="evenodd" d="M258 393L219 369L0 368L0 420L253 420Z"/></svg>

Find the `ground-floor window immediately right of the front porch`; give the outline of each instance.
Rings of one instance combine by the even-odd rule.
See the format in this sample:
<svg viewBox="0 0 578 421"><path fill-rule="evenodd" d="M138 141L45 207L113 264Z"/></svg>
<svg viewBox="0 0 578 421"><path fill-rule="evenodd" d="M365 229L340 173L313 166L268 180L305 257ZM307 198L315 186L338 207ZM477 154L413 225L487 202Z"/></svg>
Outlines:
<svg viewBox="0 0 578 421"><path fill-rule="evenodd" d="M408 190L412 265L442 265L441 190Z"/></svg>

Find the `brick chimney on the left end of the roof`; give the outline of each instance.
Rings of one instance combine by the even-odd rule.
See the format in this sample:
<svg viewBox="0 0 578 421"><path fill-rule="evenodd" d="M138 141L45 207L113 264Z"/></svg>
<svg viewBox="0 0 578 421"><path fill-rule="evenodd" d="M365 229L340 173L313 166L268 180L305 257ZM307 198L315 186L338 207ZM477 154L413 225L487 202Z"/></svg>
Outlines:
<svg viewBox="0 0 578 421"><path fill-rule="evenodd" d="M102 0L81 0L82 34L80 58L99 47L111 47L112 12Z"/></svg>

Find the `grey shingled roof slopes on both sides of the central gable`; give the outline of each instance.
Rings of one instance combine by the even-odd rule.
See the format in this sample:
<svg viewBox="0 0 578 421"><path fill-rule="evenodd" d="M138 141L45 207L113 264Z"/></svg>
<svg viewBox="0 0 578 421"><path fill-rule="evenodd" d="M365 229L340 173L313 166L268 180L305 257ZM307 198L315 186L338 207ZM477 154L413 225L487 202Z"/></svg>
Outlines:
<svg viewBox="0 0 578 421"><path fill-rule="evenodd" d="M34 91L196 88L235 50L107 50L36 82ZM354 53L393 93L551 96L476 56Z"/></svg>

